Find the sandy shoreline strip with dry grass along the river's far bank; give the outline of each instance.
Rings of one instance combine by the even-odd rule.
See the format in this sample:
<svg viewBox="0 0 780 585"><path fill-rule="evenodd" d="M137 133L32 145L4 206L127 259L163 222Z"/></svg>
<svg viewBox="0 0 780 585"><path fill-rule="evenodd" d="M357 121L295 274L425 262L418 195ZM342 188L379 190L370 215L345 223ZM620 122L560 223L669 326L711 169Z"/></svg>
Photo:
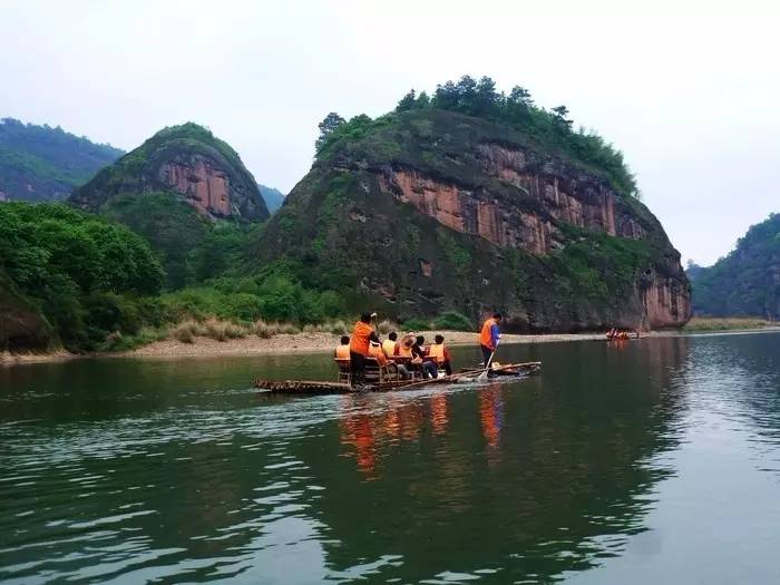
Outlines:
<svg viewBox="0 0 780 585"><path fill-rule="evenodd" d="M417 325L417 326L410 326ZM431 325L433 325L431 328ZM377 324L381 335L390 331L408 332L432 339L437 333L445 335L446 343L452 347L476 344L475 331L458 331L435 328L436 321L412 321L399 325L383 320ZM0 352L0 367L58 362L90 358L220 358L251 355L283 355L298 353L329 352L338 344L339 338L349 334L351 326L343 320L318 325L299 326L292 323L265 322L240 324L220 319L196 321L188 319L168 328L142 330L138 335L123 339L117 334L111 351L71 353L62 348L45 352L11 353ZM750 332L780 329L777 322L751 318L693 318L688 325L677 330L650 331L642 338L674 337L686 333ZM602 341L603 332L581 333L504 333L506 344L556 343L569 341Z"/></svg>

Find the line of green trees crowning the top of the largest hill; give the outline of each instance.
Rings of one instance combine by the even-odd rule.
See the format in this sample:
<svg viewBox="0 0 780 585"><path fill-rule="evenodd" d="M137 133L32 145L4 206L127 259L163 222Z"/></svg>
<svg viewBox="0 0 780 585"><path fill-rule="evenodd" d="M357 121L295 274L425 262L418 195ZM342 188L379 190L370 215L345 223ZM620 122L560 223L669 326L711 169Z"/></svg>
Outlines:
<svg viewBox="0 0 780 585"><path fill-rule="evenodd" d="M477 81L464 76L457 82L447 81L437 86L432 97L425 91L417 95L412 89L399 101L394 114L430 109L456 111L510 125L536 145L605 176L620 193L638 195L636 181L620 150L593 131L583 128L575 130L566 106L547 110L535 105L530 92L523 87L516 86L506 95L496 90L496 84L489 77ZM393 114L377 120L360 115L347 121L331 113L320 124L318 154L326 155L339 142L362 137L372 128L392 124L394 119Z"/></svg>

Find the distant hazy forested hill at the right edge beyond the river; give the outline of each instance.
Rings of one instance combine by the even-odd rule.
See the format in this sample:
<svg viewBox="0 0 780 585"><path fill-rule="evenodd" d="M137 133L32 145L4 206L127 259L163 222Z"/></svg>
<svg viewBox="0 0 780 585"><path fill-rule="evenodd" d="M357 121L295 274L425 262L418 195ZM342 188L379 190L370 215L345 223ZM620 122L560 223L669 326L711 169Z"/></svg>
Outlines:
<svg viewBox="0 0 780 585"><path fill-rule="evenodd" d="M693 264L688 274L696 314L780 319L780 214L751 226L714 265Z"/></svg>

